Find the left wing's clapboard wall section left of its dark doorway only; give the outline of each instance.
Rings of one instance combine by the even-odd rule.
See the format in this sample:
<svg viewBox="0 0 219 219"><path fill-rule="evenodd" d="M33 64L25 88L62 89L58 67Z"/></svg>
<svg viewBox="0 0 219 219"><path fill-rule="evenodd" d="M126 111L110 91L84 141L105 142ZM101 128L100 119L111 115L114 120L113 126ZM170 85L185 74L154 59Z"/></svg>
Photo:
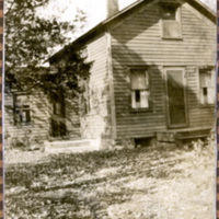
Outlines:
<svg viewBox="0 0 219 219"><path fill-rule="evenodd" d="M11 147L13 142L23 142L33 139L32 142L43 142L48 139L49 135L49 108L48 101L43 93L34 93L30 95L31 105L31 123L14 124L13 115L13 95L4 93L4 126L5 126L5 143Z"/></svg>

